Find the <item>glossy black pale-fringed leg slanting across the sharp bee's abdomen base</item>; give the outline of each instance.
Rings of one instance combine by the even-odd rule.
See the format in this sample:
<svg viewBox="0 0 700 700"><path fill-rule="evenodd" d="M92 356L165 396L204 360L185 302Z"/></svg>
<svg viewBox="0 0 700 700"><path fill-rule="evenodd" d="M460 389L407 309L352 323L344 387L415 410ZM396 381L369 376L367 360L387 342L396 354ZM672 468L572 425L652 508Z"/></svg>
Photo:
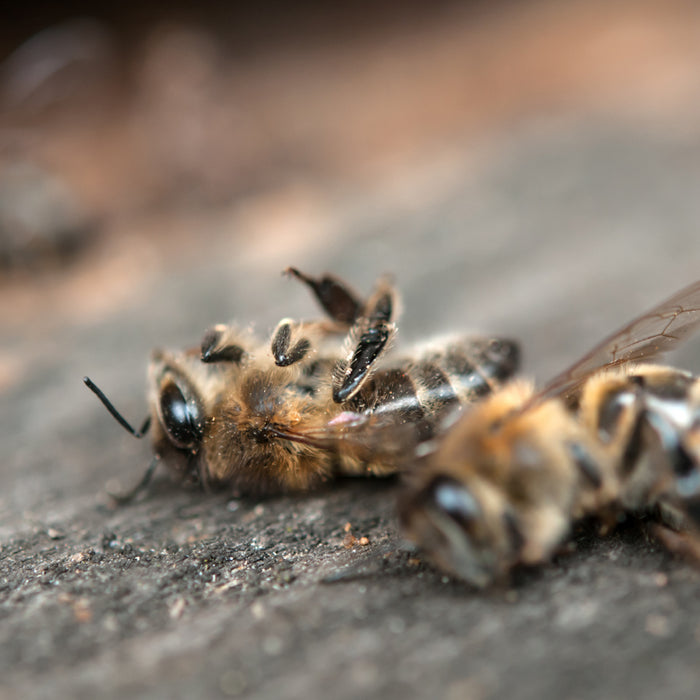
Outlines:
<svg viewBox="0 0 700 700"><path fill-rule="evenodd" d="M392 319L396 308L393 288L382 282L365 306L348 336L349 356L333 375L333 401L352 398L369 379L372 369L396 332Z"/></svg>

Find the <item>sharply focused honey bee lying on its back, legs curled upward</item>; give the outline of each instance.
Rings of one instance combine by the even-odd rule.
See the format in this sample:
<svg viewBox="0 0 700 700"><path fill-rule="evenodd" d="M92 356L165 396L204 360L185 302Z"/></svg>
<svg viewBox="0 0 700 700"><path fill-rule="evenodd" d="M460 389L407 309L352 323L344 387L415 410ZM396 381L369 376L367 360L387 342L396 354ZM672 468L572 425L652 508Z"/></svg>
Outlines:
<svg viewBox="0 0 700 700"><path fill-rule="evenodd" d="M336 474L392 473L446 414L491 393L517 368L518 346L503 338L456 338L383 362L398 306L387 279L364 300L336 277L287 272L328 318L285 318L269 343L217 325L199 348L155 350L150 415L139 430L85 378L127 431L142 437L151 428L153 460L117 500L144 489L160 462L184 481L245 494L304 491Z"/></svg>

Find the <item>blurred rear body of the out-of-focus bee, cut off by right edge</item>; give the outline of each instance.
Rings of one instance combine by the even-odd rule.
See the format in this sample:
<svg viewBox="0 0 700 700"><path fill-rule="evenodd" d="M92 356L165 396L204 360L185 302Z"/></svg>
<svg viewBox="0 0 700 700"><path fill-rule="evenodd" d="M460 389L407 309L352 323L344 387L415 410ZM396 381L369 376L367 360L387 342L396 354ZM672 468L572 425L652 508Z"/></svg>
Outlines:
<svg viewBox="0 0 700 700"><path fill-rule="evenodd" d="M700 525L700 380L659 365L601 374L580 416L609 455L601 478L619 507Z"/></svg>

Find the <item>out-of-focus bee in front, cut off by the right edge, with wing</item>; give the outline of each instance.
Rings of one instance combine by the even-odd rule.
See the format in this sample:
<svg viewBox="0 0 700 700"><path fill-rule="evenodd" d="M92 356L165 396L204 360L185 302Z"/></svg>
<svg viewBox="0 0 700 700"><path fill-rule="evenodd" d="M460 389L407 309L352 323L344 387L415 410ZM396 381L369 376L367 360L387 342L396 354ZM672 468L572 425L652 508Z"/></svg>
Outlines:
<svg viewBox="0 0 700 700"><path fill-rule="evenodd" d="M543 390L515 380L467 409L409 473L408 539L478 588L549 560L584 518L651 514L665 544L700 552L700 378L646 364L698 325L700 282Z"/></svg>

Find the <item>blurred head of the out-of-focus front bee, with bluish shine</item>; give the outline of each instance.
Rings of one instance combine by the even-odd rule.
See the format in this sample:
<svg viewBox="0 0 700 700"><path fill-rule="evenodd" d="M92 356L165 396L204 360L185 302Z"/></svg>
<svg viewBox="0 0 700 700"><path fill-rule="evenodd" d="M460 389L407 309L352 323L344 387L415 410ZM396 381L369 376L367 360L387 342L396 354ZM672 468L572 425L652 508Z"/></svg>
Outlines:
<svg viewBox="0 0 700 700"><path fill-rule="evenodd" d="M484 498L486 496L486 498ZM484 588L501 571L510 554L507 523L494 517L486 501L451 476L436 476L399 502L408 535L441 569Z"/></svg>

